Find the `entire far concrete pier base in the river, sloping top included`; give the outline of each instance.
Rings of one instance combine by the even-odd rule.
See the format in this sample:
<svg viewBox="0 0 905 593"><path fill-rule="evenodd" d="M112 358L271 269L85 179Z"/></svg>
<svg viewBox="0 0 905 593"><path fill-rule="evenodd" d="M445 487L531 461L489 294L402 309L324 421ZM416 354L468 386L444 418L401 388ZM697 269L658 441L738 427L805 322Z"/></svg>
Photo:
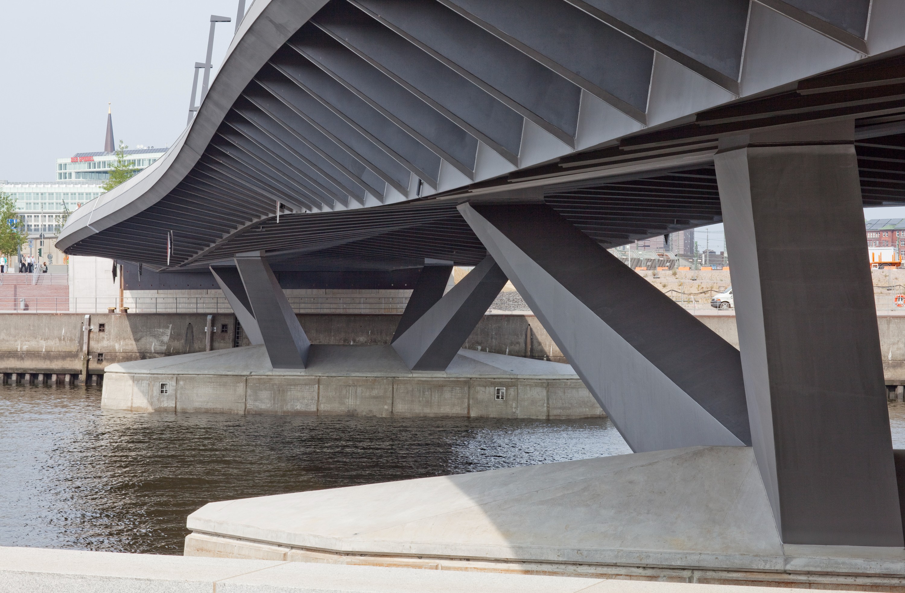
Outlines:
<svg viewBox="0 0 905 593"><path fill-rule="evenodd" d="M388 345L314 344L303 370L273 369L262 345L111 364L101 407L384 417L605 415L568 364L463 349L445 372L409 371Z"/></svg>

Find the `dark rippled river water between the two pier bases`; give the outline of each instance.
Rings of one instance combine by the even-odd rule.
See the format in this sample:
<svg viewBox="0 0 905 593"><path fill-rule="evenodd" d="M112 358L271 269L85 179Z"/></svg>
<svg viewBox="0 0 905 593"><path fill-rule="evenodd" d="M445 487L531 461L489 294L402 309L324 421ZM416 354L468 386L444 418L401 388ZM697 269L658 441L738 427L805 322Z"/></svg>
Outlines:
<svg viewBox="0 0 905 593"><path fill-rule="evenodd" d="M211 501L630 452L608 419L134 414L0 386L0 545L181 553Z"/></svg>

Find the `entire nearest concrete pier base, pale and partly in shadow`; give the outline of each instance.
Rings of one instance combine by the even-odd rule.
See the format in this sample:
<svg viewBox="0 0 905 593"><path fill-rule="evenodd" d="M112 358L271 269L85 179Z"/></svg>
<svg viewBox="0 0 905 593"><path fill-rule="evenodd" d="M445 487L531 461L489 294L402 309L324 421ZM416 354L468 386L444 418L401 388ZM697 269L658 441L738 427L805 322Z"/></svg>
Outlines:
<svg viewBox="0 0 905 593"><path fill-rule="evenodd" d="M784 545L749 447L206 504L187 556L905 590L905 550Z"/></svg>

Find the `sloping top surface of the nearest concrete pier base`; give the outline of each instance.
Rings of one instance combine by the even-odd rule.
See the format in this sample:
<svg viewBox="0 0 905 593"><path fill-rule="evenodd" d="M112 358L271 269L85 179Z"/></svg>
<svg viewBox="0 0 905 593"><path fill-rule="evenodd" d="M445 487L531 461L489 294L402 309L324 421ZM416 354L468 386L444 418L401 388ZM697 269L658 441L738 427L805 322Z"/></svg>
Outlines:
<svg viewBox="0 0 905 593"><path fill-rule="evenodd" d="M206 504L188 528L375 555L782 569L748 447L691 447ZM186 553L204 553L192 534Z"/></svg>

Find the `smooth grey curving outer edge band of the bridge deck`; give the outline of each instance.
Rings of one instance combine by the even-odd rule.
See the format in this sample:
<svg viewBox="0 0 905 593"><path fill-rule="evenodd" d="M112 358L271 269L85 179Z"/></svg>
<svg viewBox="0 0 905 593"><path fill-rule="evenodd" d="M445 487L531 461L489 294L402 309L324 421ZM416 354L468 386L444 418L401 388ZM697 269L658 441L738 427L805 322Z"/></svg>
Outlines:
<svg viewBox="0 0 905 593"><path fill-rule="evenodd" d="M76 211L57 240L67 249L158 202L192 170L235 99L271 56L317 13L327 0L257 0L246 14L224 63L192 123L167 154L142 173L104 193L82 214ZM253 17L253 18L250 18ZM80 209L81 210L81 209ZM165 235L161 232L161 237Z"/></svg>

